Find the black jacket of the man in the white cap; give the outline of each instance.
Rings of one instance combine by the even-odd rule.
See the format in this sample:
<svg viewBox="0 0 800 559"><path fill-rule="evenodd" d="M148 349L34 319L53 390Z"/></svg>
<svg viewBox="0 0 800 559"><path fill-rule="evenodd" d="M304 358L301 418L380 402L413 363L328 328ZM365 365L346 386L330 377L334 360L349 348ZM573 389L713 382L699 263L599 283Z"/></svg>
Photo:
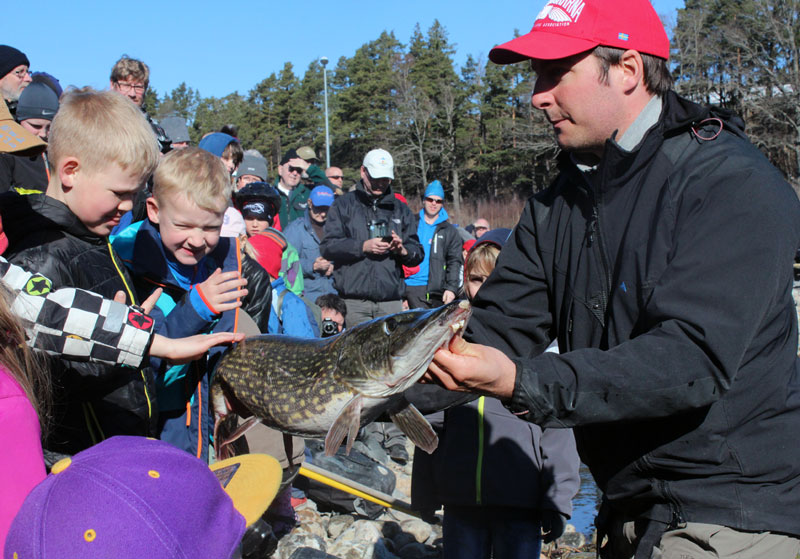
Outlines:
<svg viewBox="0 0 800 559"><path fill-rule="evenodd" d="M404 257L393 254L364 254L364 241L370 239L369 223L384 223L394 230L408 251ZM334 263L333 283L344 298L369 301L398 301L405 293L403 265L422 262L422 246L417 238L414 216L389 188L373 198L359 181L356 189L337 198L328 211L325 238L320 253Z"/></svg>

